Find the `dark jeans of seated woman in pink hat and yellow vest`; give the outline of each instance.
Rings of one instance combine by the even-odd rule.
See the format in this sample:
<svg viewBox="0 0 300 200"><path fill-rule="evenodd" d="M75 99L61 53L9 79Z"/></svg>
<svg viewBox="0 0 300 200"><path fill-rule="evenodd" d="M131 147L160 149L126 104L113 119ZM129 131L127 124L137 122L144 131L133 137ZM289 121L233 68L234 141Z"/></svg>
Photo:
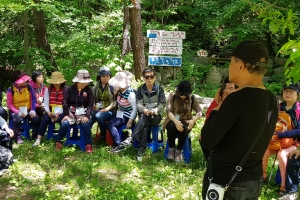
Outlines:
<svg viewBox="0 0 300 200"><path fill-rule="evenodd" d="M29 111L28 111L29 113ZM15 137L20 135L20 127L21 127L21 122L22 118L16 114L13 113L12 111L9 111L9 117L13 121L13 131L15 133ZM37 137L37 132L39 130L39 126L41 123L41 119L38 115L35 115L33 118L29 116L29 114L26 115L24 119L28 119L31 124L32 124L32 138L35 139Z"/></svg>

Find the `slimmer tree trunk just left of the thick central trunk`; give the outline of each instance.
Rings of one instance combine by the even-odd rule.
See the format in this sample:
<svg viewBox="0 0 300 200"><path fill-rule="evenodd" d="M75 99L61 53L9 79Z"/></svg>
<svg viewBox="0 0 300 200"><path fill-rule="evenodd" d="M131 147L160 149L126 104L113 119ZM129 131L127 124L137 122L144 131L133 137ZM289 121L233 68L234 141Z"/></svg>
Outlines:
<svg viewBox="0 0 300 200"><path fill-rule="evenodd" d="M124 5L123 8L124 13L124 21L123 21L123 45L122 45L122 55L123 58L130 52L131 45L130 45L130 37L129 37L129 8Z"/></svg>

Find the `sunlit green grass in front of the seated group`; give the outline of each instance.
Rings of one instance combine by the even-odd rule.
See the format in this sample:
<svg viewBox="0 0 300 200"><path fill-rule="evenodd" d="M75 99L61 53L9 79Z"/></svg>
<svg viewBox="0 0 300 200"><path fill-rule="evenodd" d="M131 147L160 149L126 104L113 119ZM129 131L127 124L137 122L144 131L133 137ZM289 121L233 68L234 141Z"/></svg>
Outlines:
<svg viewBox="0 0 300 200"><path fill-rule="evenodd" d="M138 162L133 147L112 154L99 143L91 155L75 147L55 152L54 141L43 140L43 145L35 148L33 141L14 145L18 162L0 178L0 199L202 199L206 167L198 143L202 125L201 120L192 131L189 164L168 162L163 150L156 154L147 150ZM260 199L276 198L277 190L272 178Z"/></svg>

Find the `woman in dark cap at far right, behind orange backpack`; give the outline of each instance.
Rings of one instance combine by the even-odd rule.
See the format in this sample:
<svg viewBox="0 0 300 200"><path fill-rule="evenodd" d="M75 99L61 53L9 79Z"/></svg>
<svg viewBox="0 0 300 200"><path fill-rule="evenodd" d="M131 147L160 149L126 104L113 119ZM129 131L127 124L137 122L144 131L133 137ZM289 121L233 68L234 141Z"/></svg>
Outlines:
<svg viewBox="0 0 300 200"><path fill-rule="evenodd" d="M273 136L273 140L282 139L282 138L297 138L300 137L300 125L299 125L299 115L300 115L300 103L297 101L299 97L299 87L298 85L290 84L285 86L282 89L282 97L284 101L280 104L280 110L285 111L290 115L293 130L288 130L282 133L278 133ZM285 194L285 179L286 179L286 164L287 164L287 154L297 147L292 145L286 149L280 149L279 151L272 150L268 148L263 157L263 178L267 180L267 166L268 166L268 157L276 154L279 162L280 176L281 176L281 186L279 189L279 196L283 196Z"/></svg>

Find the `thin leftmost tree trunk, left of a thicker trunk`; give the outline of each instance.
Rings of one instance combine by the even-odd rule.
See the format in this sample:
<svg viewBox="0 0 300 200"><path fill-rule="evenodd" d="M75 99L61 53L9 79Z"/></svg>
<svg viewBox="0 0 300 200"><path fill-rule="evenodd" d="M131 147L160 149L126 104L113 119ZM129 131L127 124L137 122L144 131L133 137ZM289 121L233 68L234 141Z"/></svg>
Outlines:
<svg viewBox="0 0 300 200"><path fill-rule="evenodd" d="M27 10L24 10L22 13L23 17L23 25L24 25L24 63L26 65L26 73L31 74L31 66L29 62L29 55L28 55L28 43L29 43L29 31L28 31L28 14Z"/></svg>

